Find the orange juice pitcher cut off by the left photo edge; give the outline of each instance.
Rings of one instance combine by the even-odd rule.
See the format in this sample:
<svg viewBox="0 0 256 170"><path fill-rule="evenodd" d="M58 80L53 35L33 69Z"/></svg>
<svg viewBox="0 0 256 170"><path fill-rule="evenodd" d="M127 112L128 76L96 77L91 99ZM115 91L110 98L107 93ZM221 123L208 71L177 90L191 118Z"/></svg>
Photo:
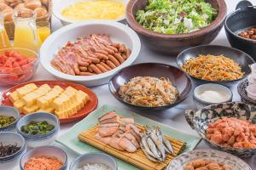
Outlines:
<svg viewBox="0 0 256 170"><path fill-rule="evenodd" d="M2 48L10 48L9 37L4 28L4 15L0 14L0 49Z"/></svg>

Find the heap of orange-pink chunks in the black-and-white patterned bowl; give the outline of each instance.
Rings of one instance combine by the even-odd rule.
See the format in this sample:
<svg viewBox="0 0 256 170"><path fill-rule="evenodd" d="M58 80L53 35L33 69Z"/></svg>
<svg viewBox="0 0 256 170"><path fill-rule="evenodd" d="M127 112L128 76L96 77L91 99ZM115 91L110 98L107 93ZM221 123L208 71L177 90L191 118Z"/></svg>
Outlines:
<svg viewBox="0 0 256 170"><path fill-rule="evenodd" d="M236 117L223 117L207 127L207 139L236 148L256 148L256 125Z"/></svg>

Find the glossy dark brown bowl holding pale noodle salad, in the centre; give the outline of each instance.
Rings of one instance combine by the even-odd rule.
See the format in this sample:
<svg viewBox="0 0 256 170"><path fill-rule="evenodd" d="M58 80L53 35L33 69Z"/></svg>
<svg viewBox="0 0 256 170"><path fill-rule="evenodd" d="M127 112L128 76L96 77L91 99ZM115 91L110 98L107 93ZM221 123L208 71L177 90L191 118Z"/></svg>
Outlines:
<svg viewBox="0 0 256 170"><path fill-rule="evenodd" d="M127 103L121 99L119 95L119 88L126 82L129 82L133 77L166 77L174 86L176 86L179 93L179 98L172 105L164 105L159 107L147 107ZM108 87L111 94L113 94L116 99L119 99L119 101L125 105L131 106L137 110L156 111L171 108L186 99L192 88L192 83L189 76L175 66L160 63L142 63L127 66L121 71L117 72L109 81Z"/></svg>

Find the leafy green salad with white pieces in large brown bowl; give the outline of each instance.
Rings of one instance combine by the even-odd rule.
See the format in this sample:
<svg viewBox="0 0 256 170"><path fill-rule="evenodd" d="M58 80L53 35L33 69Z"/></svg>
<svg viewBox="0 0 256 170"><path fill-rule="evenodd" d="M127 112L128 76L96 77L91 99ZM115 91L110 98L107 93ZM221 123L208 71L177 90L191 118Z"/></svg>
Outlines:
<svg viewBox="0 0 256 170"><path fill-rule="evenodd" d="M136 20L150 31L181 34L208 26L217 14L205 0L148 0L148 6L137 11Z"/></svg>

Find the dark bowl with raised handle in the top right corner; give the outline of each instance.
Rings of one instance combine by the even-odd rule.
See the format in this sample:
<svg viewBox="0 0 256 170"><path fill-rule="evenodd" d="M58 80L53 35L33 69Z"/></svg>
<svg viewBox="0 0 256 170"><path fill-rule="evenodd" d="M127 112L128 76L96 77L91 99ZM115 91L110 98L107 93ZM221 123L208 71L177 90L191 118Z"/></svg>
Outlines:
<svg viewBox="0 0 256 170"><path fill-rule="evenodd" d="M238 36L239 32L252 27L256 27L256 6L253 7L252 3L247 1L238 3L236 11L230 13L224 22L230 45L233 48L241 49L241 51L250 54L253 59L256 59L256 40Z"/></svg>

